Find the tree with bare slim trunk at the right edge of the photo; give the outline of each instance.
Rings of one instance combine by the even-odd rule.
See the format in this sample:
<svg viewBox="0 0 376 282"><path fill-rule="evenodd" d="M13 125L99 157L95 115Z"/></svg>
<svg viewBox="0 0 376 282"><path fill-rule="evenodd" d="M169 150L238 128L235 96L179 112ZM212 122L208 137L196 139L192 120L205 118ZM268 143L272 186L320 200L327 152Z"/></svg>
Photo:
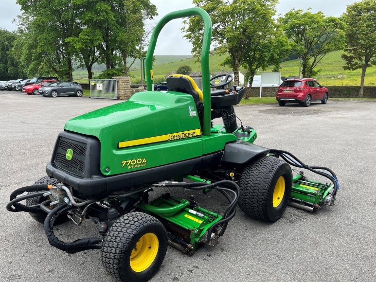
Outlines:
<svg viewBox="0 0 376 282"><path fill-rule="evenodd" d="M361 98L367 68L376 64L376 0L363 0L347 6L344 20L347 24L347 47L342 54L346 62L343 69L361 69Z"/></svg>

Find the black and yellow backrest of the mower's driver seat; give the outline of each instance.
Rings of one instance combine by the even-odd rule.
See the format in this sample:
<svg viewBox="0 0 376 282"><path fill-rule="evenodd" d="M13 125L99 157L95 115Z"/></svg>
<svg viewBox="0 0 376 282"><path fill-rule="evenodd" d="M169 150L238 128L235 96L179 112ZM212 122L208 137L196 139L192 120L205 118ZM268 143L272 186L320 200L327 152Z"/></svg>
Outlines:
<svg viewBox="0 0 376 282"><path fill-rule="evenodd" d="M172 74L167 77L166 81L169 91L191 94L195 103L204 100L202 91L192 77L184 74Z"/></svg>

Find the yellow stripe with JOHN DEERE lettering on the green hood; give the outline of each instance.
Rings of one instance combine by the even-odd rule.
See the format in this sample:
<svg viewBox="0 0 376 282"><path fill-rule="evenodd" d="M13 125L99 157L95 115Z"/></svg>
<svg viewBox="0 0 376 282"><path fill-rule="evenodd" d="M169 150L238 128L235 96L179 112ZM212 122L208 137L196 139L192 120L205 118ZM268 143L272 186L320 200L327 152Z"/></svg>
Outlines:
<svg viewBox="0 0 376 282"><path fill-rule="evenodd" d="M199 135L201 135L200 129L187 130L187 131L181 131L181 132L165 134L165 135L160 135L160 136L153 136L153 137L148 137L148 138L143 138L143 139L123 141L123 142L118 143L118 147L125 148L125 147L145 145L145 144L162 142L162 141L173 141L173 140L179 140L179 139L184 139L184 138L191 138L191 137L195 137Z"/></svg>

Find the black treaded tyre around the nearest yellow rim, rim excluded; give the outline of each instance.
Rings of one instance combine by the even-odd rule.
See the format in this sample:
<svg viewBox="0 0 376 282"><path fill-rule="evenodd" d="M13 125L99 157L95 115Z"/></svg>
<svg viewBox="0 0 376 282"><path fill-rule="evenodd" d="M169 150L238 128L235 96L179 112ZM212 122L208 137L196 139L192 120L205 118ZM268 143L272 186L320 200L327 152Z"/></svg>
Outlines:
<svg viewBox="0 0 376 282"><path fill-rule="evenodd" d="M157 235L159 248L153 263L142 272L130 267L130 255L137 241L146 233ZM167 251L167 232L161 222L143 212L130 212L115 221L102 242L102 264L118 282L147 281L160 268Z"/></svg>

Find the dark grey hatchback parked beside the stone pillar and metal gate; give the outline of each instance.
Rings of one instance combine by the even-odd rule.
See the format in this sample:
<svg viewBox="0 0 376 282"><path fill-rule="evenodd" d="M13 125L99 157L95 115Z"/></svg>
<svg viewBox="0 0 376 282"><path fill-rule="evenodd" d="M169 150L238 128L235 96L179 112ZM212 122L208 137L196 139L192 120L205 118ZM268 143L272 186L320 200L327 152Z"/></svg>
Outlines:
<svg viewBox="0 0 376 282"><path fill-rule="evenodd" d="M39 94L42 94L43 96L51 96L51 97L57 97L57 96L77 96L81 97L84 93L84 90L82 87L74 82L70 81L58 81L50 84L49 86L44 86L39 88Z"/></svg>

